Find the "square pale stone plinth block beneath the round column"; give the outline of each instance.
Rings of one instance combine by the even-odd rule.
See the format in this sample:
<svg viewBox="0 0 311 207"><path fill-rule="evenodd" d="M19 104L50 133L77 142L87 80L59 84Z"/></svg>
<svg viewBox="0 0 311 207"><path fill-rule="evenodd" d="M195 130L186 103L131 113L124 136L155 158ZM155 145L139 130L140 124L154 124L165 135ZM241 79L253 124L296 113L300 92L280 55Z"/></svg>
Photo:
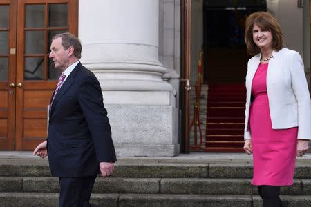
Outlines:
<svg viewBox="0 0 311 207"><path fill-rule="evenodd" d="M175 156L178 110L170 105L106 104L117 156Z"/></svg>

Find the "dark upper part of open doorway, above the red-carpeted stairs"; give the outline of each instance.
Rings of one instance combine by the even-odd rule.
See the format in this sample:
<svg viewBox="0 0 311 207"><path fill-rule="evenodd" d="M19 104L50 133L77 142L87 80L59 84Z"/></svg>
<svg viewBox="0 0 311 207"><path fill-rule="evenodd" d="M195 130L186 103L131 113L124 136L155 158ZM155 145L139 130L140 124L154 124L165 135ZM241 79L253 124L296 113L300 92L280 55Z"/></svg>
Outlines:
<svg viewBox="0 0 311 207"><path fill-rule="evenodd" d="M205 77L207 84L244 83L247 61L245 19L267 10L265 1L204 1Z"/></svg>

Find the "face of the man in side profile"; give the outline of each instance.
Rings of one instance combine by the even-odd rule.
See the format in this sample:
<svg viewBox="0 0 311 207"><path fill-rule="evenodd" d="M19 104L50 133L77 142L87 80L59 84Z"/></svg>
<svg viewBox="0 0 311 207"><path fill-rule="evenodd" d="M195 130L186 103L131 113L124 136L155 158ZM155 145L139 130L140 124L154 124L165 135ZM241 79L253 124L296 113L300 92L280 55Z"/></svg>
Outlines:
<svg viewBox="0 0 311 207"><path fill-rule="evenodd" d="M69 49L69 48L68 48ZM70 63L70 52L62 46L62 37L54 39L50 45L50 59L55 68L65 70Z"/></svg>

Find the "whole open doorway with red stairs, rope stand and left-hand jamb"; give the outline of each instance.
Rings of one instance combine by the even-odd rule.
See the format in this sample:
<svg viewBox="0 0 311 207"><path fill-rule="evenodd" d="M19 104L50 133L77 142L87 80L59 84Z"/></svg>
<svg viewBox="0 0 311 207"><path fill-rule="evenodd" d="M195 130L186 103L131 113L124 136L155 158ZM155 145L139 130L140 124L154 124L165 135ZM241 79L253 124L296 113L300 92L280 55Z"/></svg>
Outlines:
<svg viewBox="0 0 311 207"><path fill-rule="evenodd" d="M183 135L189 137L185 143L189 151L243 152L245 75L250 58L244 41L245 19L253 12L267 10L267 3L223 0L186 2L183 11L185 13L188 9L190 14L188 17L184 15L182 23L182 34L185 35L182 45L186 45L182 50L184 62L181 74L184 79L190 79L191 90L195 90L193 97L196 98L188 101L190 106L194 106L188 105L187 112L183 112L188 115L188 119L183 121L191 121L188 125L190 135ZM188 52L187 48L191 51ZM199 68L202 74L198 72ZM191 74L191 77L186 77L186 74ZM201 78L203 84L198 95L197 83ZM181 88L183 90L184 86ZM186 101L183 103L186 104ZM183 110L187 107L183 106ZM196 124L201 124L200 128ZM194 135L191 136L191 133Z"/></svg>

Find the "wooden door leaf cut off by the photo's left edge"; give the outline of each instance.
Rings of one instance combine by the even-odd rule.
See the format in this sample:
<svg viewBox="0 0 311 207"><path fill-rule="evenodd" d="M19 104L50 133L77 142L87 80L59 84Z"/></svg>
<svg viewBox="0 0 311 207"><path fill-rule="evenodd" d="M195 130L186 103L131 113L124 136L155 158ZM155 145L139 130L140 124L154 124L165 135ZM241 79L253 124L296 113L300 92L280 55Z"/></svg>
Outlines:
<svg viewBox="0 0 311 207"><path fill-rule="evenodd" d="M16 0L0 0L0 150L15 146Z"/></svg>

